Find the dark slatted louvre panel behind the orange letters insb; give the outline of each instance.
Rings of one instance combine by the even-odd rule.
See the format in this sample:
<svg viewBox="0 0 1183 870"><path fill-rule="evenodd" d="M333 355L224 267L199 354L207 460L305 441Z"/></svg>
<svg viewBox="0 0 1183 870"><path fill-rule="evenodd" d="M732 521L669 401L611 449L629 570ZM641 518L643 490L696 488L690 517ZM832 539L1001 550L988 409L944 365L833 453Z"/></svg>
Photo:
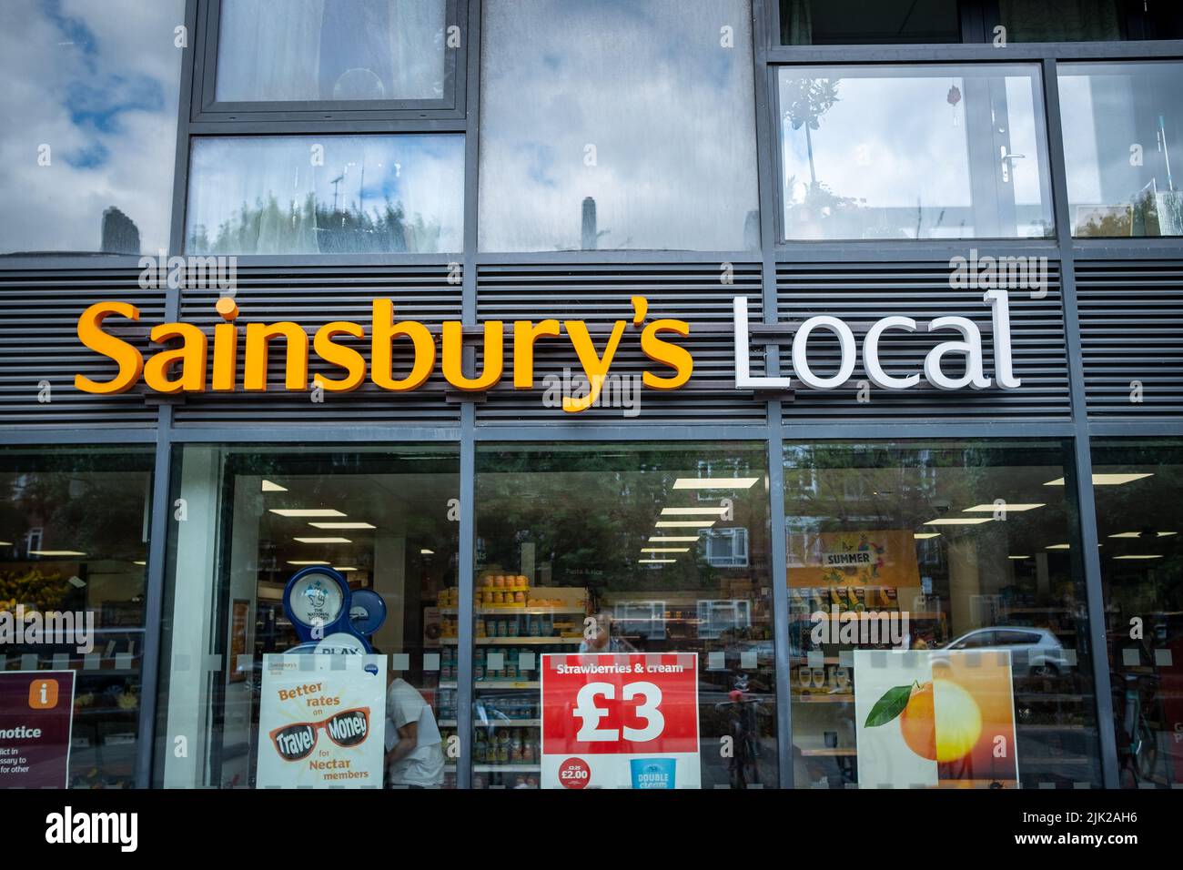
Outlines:
<svg viewBox="0 0 1183 870"><path fill-rule="evenodd" d="M299 268L238 269L239 316L237 388L233 393L188 394L175 406L177 427L201 424L348 424L454 425L459 405L445 399L439 363L440 323L460 320L461 285L450 284L445 265L400 268ZM187 290L182 294L181 317L211 336L207 379L213 370L213 328L224 322L214 310L216 290ZM389 298L399 320L419 321L435 335L437 356L432 376L418 389L393 393L370 381L370 334L373 301ZM366 330L363 339L337 336L334 341L353 347L366 360L366 380L350 393L324 392L324 401L313 402L311 392L284 389L286 342L280 337L267 348L267 392L243 389L243 365L247 323L293 321L309 336L309 382L322 373L340 379L344 372L325 363L312 349L316 330L332 321L351 321ZM411 342L394 342L394 370L405 375L412 365Z"/></svg>

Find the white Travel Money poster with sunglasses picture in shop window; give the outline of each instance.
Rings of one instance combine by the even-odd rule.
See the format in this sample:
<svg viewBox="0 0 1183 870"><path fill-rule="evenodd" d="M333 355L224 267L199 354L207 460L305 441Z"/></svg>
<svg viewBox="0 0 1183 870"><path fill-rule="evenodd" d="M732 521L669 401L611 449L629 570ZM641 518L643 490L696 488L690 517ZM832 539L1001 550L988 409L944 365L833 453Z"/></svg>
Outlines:
<svg viewBox="0 0 1183 870"><path fill-rule="evenodd" d="M263 657L257 788L381 788L386 656Z"/></svg>

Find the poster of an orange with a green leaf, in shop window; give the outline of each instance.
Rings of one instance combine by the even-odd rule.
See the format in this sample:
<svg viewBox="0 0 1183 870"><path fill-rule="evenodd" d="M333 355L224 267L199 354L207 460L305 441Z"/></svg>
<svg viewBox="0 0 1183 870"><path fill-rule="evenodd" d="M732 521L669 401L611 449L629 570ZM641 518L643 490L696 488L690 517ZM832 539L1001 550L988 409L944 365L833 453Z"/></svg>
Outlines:
<svg viewBox="0 0 1183 870"><path fill-rule="evenodd" d="M1019 786L1009 650L854 651L860 788Z"/></svg>

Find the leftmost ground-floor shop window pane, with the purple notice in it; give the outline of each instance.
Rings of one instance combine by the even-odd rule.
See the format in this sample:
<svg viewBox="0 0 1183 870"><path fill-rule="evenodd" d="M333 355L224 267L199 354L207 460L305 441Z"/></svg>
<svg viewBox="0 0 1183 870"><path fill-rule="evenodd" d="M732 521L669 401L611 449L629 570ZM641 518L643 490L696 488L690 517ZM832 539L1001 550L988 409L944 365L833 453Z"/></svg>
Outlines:
<svg viewBox="0 0 1183 870"><path fill-rule="evenodd" d="M2 787L136 785L151 469L150 450L0 451L0 732L44 735L0 747Z"/></svg>

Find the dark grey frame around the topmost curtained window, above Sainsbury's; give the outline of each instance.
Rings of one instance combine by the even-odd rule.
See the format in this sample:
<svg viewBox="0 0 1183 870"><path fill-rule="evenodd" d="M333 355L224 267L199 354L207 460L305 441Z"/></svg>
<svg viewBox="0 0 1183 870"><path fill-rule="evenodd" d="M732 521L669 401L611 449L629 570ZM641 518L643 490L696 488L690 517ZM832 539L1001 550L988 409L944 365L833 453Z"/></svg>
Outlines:
<svg viewBox="0 0 1183 870"><path fill-rule="evenodd" d="M453 26L459 27L460 46L445 47L441 99L219 101L218 33L221 26L221 6L222 0L209 0L199 6L190 104L190 121L194 123L425 121L465 117L467 0L445 0L445 32Z"/></svg>

